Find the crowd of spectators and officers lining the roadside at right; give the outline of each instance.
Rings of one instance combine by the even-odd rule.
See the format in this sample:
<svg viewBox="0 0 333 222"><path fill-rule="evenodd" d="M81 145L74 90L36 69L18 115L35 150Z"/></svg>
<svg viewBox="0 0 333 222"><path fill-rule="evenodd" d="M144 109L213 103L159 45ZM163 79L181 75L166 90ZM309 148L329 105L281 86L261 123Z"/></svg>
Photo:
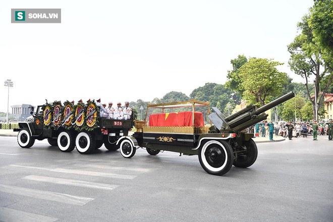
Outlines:
<svg viewBox="0 0 333 222"><path fill-rule="evenodd" d="M269 140L273 140L273 135L282 136L292 140L293 138L306 138L308 135L313 136L313 140L317 140L318 135L328 135L328 140L333 140L333 120L328 122L275 122L262 121L253 126L255 134L260 137L269 136Z"/></svg>

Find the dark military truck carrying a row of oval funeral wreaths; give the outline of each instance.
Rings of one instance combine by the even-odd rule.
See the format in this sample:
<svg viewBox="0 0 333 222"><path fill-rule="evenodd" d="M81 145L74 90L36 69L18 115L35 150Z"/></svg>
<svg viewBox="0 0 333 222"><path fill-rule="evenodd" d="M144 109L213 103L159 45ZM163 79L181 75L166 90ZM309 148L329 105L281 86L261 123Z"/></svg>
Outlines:
<svg viewBox="0 0 333 222"><path fill-rule="evenodd" d="M134 122L129 120L100 117L99 108L94 101L82 101L74 106L58 101L53 104L37 106L36 112L31 107L32 116L19 122L17 141L20 147L32 147L35 140L47 139L51 146L58 146L62 152L71 152L74 148L81 154L88 154L99 149L103 144L108 150L118 150L118 141L128 136Z"/></svg>

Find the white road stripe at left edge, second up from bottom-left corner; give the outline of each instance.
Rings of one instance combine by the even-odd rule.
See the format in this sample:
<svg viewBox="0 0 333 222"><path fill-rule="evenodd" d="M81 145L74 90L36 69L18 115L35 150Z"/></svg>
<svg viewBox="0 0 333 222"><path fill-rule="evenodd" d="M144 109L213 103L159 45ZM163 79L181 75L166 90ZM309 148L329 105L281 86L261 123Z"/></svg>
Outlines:
<svg viewBox="0 0 333 222"><path fill-rule="evenodd" d="M93 198L0 184L0 192L83 206Z"/></svg>

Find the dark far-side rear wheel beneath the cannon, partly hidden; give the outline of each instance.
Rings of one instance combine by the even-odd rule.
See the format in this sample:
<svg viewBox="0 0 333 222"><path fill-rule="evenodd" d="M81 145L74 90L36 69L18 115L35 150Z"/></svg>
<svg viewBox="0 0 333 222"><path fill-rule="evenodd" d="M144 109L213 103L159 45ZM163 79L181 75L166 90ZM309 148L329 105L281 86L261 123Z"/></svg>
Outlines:
<svg viewBox="0 0 333 222"><path fill-rule="evenodd" d="M257 145L252 139L243 141L244 152L237 153L237 158L234 160L234 166L246 168L251 166L257 159L258 149Z"/></svg>

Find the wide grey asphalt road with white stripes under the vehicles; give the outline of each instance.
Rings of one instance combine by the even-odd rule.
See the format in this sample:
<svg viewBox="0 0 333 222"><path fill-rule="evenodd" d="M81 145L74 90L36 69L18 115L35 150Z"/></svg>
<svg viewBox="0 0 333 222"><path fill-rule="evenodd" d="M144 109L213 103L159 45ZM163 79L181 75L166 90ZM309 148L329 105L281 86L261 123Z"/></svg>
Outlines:
<svg viewBox="0 0 333 222"><path fill-rule="evenodd" d="M224 176L197 156L22 149L0 137L0 221L332 221L333 141L258 144Z"/></svg>

